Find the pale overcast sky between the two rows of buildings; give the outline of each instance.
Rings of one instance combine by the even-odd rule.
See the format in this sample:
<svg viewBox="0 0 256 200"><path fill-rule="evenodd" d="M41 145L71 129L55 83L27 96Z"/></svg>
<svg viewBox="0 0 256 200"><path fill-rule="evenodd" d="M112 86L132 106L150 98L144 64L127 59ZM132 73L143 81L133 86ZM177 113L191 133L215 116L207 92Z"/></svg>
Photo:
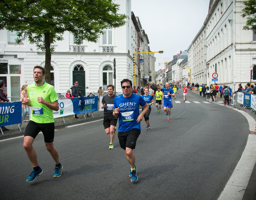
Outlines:
<svg viewBox="0 0 256 200"><path fill-rule="evenodd" d="M163 69L158 63L171 61L173 55L185 51L202 28L210 0L132 0L132 11L149 39L155 53L155 70Z"/></svg>

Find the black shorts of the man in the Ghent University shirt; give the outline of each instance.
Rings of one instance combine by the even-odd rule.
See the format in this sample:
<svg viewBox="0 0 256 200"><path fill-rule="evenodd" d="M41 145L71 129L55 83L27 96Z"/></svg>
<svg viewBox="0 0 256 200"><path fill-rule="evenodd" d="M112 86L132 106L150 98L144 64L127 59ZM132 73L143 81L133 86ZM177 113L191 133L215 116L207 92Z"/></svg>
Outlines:
<svg viewBox="0 0 256 200"><path fill-rule="evenodd" d="M118 132L118 139L121 148L124 150L126 147L130 149L135 149L136 141L139 138L139 135L139 129L132 129L126 132Z"/></svg>

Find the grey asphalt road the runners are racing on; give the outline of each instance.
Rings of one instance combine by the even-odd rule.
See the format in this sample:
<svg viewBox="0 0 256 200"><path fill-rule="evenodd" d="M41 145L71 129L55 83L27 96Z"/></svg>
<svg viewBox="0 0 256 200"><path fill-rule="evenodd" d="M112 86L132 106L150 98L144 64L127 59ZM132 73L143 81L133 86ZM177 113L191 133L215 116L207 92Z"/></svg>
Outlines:
<svg viewBox="0 0 256 200"><path fill-rule="evenodd" d="M0 199L218 199L234 171L249 134L237 111L204 103L198 94L173 99L171 121L165 113L150 114L153 129L141 135L134 150L139 180L132 183L130 166L103 121L55 131L63 173L52 178L54 162L43 135L34 142L42 175L27 183L31 164L22 138L0 143ZM175 102L177 101L177 102Z"/></svg>

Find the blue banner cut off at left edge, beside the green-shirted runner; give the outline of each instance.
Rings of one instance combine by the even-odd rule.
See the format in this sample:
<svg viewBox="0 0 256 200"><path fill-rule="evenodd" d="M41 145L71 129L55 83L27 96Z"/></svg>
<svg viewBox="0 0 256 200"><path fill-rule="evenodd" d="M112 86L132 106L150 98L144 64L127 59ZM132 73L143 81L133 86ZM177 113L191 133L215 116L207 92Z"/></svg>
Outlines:
<svg viewBox="0 0 256 200"><path fill-rule="evenodd" d="M0 126L20 124L21 111L21 101L0 103Z"/></svg>

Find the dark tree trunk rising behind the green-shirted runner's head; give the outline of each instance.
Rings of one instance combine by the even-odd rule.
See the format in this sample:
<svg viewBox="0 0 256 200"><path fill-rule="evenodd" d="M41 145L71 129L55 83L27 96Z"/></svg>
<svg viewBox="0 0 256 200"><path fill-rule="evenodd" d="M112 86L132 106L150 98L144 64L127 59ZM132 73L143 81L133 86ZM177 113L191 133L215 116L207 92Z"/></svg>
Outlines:
<svg viewBox="0 0 256 200"><path fill-rule="evenodd" d="M51 43L50 33L44 33L45 43L45 82L51 84Z"/></svg>

